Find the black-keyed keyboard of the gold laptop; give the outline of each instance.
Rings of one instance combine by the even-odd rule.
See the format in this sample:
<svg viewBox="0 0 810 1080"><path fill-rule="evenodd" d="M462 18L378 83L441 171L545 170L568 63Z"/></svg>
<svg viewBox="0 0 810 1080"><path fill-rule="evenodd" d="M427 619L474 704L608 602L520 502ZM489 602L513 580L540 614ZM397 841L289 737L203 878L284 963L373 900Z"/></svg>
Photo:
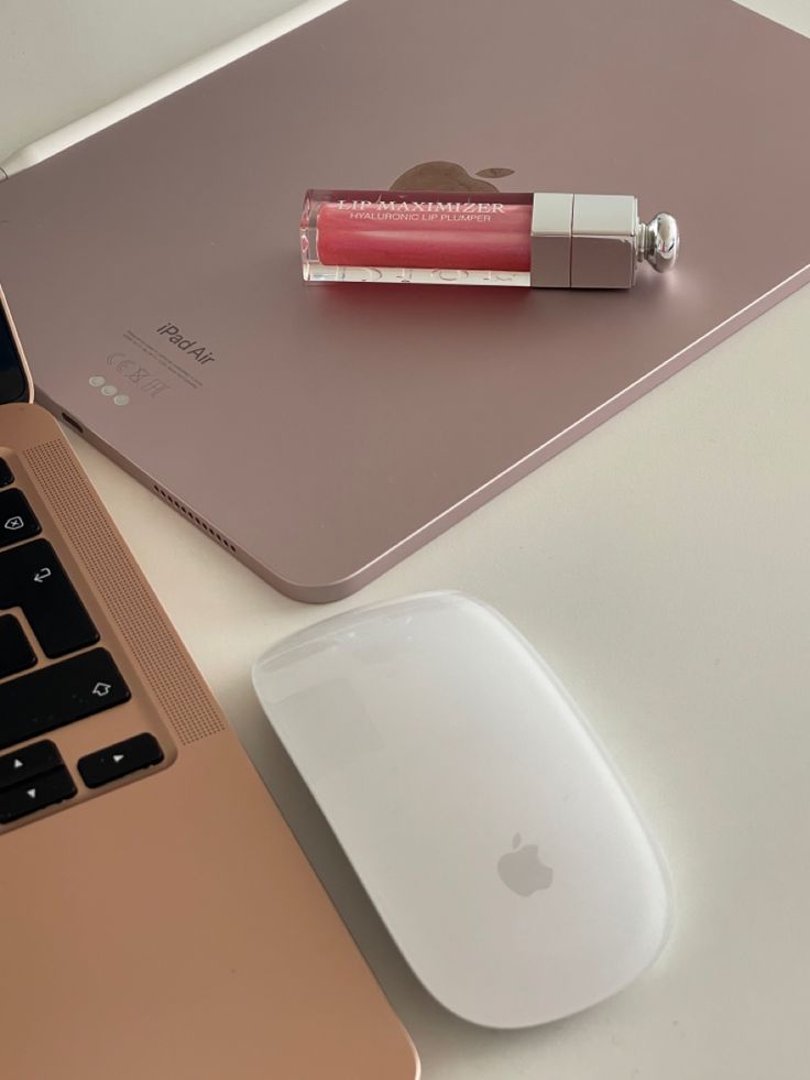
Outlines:
<svg viewBox="0 0 810 1080"><path fill-rule="evenodd" d="M0 751L122 705L130 689L79 599L7 461L0 458ZM10 613L22 611L24 623ZM53 663L41 663L34 650ZM81 757L96 788L160 764L144 732ZM0 826L77 794L51 740L0 755Z"/></svg>

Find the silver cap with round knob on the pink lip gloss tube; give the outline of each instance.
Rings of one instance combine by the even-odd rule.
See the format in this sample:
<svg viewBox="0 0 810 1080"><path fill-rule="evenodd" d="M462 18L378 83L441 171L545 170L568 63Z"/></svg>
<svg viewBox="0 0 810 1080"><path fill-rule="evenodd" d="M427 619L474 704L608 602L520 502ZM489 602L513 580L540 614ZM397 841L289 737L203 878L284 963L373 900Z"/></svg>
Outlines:
<svg viewBox="0 0 810 1080"><path fill-rule="evenodd" d="M645 225L634 195L538 193L532 206L532 285L630 288L639 262L671 270L679 242L671 214Z"/></svg>

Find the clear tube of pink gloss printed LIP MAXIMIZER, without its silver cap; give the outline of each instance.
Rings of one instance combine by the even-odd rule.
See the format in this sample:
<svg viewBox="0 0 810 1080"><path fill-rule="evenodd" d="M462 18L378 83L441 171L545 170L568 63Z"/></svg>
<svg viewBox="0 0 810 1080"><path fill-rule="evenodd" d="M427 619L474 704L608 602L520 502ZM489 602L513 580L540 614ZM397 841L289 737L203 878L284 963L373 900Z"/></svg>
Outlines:
<svg viewBox="0 0 810 1080"><path fill-rule="evenodd" d="M528 284L532 196L310 192L308 281Z"/></svg>

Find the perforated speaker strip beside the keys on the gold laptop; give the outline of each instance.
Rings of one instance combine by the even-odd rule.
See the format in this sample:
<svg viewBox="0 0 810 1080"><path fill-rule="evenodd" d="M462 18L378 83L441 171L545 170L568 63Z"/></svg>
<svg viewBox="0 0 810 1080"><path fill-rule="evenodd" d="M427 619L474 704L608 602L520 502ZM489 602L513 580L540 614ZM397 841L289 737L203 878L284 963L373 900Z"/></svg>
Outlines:
<svg viewBox="0 0 810 1080"><path fill-rule="evenodd" d="M222 731L207 687L73 455L54 440L25 451L25 460L179 741Z"/></svg>

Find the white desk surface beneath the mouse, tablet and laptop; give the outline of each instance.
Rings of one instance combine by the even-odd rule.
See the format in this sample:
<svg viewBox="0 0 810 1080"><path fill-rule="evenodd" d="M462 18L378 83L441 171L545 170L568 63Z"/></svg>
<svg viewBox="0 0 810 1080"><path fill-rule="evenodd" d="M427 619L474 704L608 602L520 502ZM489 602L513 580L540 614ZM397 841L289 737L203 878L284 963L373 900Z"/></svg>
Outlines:
<svg viewBox="0 0 810 1080"><path fill-rule="evenodd" d="M288 7L3 0L0 160ZM810 35L809 0L749 7ZM804 288L328 609L274 592L72 437L412 1032L425 1080L808 1074L808 340ZM250 688L252 659L298 626L447 587L495 604L554 665L635 790L676 883L659 962L612 1001L544 1028L479 1029L419 988Z"/></svg>

